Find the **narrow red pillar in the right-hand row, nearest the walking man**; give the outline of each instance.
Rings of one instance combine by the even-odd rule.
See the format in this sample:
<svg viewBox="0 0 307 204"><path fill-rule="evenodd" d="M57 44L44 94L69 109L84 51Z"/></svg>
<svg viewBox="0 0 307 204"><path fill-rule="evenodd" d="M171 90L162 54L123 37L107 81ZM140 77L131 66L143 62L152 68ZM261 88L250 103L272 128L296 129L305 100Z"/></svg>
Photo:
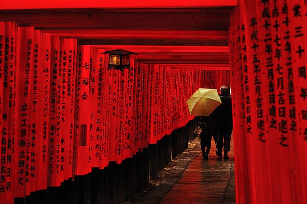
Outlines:
<svg viewBox="0 0 307 204"><path fill-rule="evenodd" d="M236 184L236 201L238 203L245 203L245 176L248 176L244 161L246 161L246 141L244 139L244 104L243 104L243 64L242 60L242 39L240 33L239 9L235 8L231 15L230 26L230 71L232 75L231 91L232 94L232 115L233 115L233 140L235 160L242 162L235 162L235 184Z"/></svg>

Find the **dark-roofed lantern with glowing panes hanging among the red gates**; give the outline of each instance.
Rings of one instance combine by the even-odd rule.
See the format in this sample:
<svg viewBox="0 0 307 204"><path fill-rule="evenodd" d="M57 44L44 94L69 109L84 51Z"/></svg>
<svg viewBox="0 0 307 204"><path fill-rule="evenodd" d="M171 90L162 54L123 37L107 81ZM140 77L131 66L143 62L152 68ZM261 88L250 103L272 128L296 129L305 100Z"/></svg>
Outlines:
<svg viewBox="0 0 307 204"><path fill-rule="evenodd" d="M102 52L101 54L109 54L108 69L130 69L130 54L137 54L127 50L111 50Z"/></svg>

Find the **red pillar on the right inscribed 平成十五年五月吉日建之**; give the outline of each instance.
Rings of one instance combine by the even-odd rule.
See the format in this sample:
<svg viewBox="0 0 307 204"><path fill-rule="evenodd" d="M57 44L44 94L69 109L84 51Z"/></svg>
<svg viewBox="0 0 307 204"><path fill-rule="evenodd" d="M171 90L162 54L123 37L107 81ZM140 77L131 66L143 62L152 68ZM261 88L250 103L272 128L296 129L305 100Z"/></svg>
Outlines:
<svg viewBox="0 0 307 204"><path fill-rule="evenodd" d="M263 3L263 2L262 2ZM248 58L248 76L250 82L250 107L251 107L251 132L254 135L252 138L252 156L254 163L254 172L257 172L257 177L255 177L255 187L254 189L257 192L257 202L266 202L266 200L271 199L270 186L264 182L263 178L269 182L269 173L267 170L261 166L267 165L267 146L266 134L268 131L267 125L267 114L268 114L268 98L266 91L266 68L265 68L265 58L262 55L262 52L265 50L264 38L261 34L262 25L264 22L261 22L259 15L260 6L255 3L249 3L246 5L246 10L252 10L249 12L249 24L246 26L246 32L249 33L247 38L246 52L249 53ZM251 62L252 64L250 64ZM255 108L253 108L255 107Z"/></svg>

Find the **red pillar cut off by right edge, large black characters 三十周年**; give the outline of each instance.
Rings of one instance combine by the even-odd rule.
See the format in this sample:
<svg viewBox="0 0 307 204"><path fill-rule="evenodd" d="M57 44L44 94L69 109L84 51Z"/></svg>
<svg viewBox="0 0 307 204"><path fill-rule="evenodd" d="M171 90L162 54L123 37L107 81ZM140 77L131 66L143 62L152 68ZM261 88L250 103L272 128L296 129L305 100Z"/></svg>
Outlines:
<svg viewBox="0 0 307 204"><path fill-rule="evenodd" d="M307 75L306 75L306 31L305 25L307 18L307 5L302 1L284 1L284 5L288 6L288 17L284 22L289 24L290 30L290 44L291 48L291 67L293 71L293 88L294 91L294 108L290 112L292 121L290 127L296 129L293 134L293 149L290 156L296 158L291 164L290 168L292 173L292 181L295 179L294 187L289 187L293 190L295 200L292 202L304 203L307 202L307 197L304 193L299 196L301 192L307 189L307 159L304 156L304 151L307 148L307 108L305 106L307 101ZM287 50L288 51L288 50ZM288 72L289 75L289 72ZM289 78L289 76L288 76ZM290 87L288 87L290 92ZM290 99L289 99L290 100ZM292 144L291 144L292 145ZM289 147L290 144L289 144ZM291 147L292 148L292 147ZM298 188L294 191L293 188Z"/></svg>

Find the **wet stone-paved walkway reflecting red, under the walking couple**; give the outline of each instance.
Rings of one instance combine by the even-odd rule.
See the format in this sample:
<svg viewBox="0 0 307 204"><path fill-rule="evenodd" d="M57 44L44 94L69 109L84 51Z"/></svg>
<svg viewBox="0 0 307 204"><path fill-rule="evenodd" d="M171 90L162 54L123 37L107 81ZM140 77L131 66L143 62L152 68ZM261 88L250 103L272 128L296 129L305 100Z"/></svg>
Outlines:
<svg viewBox="0 0 307 204"><path fill-rule="evenodd" d="M188 150L159 172L147 191L132 203L235 203L233 142L230 159L224 161L215 154L212 140L207 161L202 157L199 140L190 141Z"/></svg>

